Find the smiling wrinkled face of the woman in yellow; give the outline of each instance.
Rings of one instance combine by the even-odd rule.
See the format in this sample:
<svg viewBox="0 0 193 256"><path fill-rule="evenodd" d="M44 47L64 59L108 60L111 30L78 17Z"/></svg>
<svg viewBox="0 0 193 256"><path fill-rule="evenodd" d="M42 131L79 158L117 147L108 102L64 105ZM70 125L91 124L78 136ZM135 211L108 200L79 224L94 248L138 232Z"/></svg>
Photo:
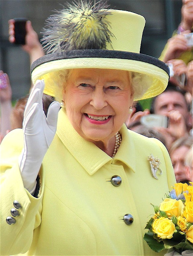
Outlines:
<svg viewBox="0 0 193 256"><path fill-rule="evenodd" d="M89 141L108 141L125 122L133 102L129 72L73 69L63 92L67 116Z"/></svg>

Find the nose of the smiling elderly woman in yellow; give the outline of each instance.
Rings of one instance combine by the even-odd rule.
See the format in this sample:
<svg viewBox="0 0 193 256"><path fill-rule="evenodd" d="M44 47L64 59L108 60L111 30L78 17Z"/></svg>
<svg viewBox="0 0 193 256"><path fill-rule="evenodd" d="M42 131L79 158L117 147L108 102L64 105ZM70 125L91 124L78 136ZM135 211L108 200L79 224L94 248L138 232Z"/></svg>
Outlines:
<svg viewBox="0 0 193 256"><path fill-rule="evenodd" d="M94 106L95 109L102 109L107 106L106 95L104 91L95 90L92 93L92 99L90 104Z"/></svg>

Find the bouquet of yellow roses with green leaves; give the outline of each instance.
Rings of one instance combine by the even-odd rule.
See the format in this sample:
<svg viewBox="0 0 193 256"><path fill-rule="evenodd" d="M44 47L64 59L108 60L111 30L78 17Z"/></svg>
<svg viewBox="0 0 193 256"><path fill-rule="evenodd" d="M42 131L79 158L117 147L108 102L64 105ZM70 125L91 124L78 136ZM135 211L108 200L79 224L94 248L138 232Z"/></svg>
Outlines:
<svg viewBox="0 0 193 256"><path fill-rule="evenodd" d="M193 255L193 182L176 183L165 194L159 206L153 205L155 214L148 221L144 239L156 252L170 249L166 255ZM173 252L175 252L173 254Z"/></svg>

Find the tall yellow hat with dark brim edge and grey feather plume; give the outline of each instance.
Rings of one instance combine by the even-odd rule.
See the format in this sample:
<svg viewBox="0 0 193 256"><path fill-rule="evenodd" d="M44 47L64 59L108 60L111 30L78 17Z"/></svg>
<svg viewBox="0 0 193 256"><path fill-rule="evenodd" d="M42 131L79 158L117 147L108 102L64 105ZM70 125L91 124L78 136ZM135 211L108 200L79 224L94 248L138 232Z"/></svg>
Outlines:
<svg viewBox="0 0 193 256"><path fill-rule="evenodd" d="M31 66L33 83L44 79L44 93L62 99L59 70L108 68L141 73L134 100L156 96L168 84L168 66L140 53L145 18L107 5L80 1L47 19L42 41L48 54ZM144 82L146 81L146 82ZM136 83L135 83L136 84ZM59 90L59 91L58 91Z"/></svg>

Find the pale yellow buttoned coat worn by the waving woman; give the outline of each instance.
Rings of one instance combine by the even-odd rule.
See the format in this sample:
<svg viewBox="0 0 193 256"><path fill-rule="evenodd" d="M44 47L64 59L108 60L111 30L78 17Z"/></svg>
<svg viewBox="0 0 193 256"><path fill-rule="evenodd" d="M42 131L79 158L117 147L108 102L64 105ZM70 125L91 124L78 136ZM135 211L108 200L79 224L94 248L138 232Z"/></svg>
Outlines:
<svg viewBox="0 0 193 256"><path fill-rule="evenodd" d="M40 170L41 189L34 198L23 187L17 158L22 130L1 142L1 254L12 255L164 255L143 239L153 214L176 182L164 145L122 126L122 143L114 158L85 141L73 129L64 111ZM160 161L163 174L152 176L148 156ZM120 186L111 183L113 175ZM16 223L9 225L13 201L22 205ZM127 225L123 216L134 217Z"/></svg>

